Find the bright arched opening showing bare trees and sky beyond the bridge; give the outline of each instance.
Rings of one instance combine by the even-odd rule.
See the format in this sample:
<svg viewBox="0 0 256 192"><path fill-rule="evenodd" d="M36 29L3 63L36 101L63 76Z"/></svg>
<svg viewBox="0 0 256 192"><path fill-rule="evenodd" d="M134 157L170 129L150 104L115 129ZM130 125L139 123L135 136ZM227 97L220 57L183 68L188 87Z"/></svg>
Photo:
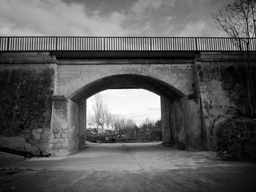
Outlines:
<svg viewBox="0 0 256 192"><path fill-rule="evenodd" d="M143 89L110 89L86 102L88 142L162 142L160 96Z"/></svg>

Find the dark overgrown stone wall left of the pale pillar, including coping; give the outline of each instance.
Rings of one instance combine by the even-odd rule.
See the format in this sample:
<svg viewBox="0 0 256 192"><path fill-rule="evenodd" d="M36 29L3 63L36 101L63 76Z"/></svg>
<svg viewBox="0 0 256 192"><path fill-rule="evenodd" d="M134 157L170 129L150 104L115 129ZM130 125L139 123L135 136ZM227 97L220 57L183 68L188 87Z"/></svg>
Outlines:
<svg viewBox="0 0 256 192"><path fill-rule="evenodd" d="M56 64L0 60L0 135L21 136L47 155Z"/></svg>

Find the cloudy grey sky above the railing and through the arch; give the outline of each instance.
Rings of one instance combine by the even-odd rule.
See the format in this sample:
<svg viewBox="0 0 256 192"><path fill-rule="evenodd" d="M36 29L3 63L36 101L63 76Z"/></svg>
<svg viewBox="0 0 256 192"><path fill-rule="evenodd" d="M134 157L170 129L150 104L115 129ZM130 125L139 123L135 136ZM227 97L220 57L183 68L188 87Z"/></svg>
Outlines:
<svg viewBox="0 0 256 192"><path fill-rule="evenodd" d="M0 36L222 37L211 12L231 1L0 0ZM159 96L148 91L109 90L102 96L112 112L138 125L160 118Z"/></svg>

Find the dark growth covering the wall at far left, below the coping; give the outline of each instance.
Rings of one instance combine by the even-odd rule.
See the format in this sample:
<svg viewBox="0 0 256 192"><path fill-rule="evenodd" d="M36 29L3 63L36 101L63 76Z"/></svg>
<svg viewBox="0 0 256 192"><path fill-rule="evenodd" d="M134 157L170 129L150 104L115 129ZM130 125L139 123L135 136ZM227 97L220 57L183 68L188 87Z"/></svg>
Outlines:
<svg viewBox="0 0 256 192"><path fill-rule="evenodd" d="M50 127L53 69L0 72L0 135L28 136Z"/></svg>

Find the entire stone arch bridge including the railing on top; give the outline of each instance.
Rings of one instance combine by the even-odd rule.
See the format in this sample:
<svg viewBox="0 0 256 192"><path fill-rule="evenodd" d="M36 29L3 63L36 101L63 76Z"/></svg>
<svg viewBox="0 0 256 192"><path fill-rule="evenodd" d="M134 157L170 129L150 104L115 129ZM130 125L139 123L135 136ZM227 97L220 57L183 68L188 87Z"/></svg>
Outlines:
<svg viewBox="0 0 256 192"><path fill-rule="evenodd" d="M86 99L143 88L161 97L163 145L214 149L214 126L239 115L246 94L236 77L256 60L255 44L244 52L238 39L221 40L1 37L0 134L65 155L86 145Z"/></svg>

